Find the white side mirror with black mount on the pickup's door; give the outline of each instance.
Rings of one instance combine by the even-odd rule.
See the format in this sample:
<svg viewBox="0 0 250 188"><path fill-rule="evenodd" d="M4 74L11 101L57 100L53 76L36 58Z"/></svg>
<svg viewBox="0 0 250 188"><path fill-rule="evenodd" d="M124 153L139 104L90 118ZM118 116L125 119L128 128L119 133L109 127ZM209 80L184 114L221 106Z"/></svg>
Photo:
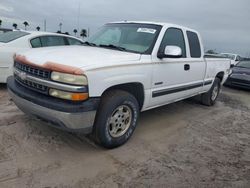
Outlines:
<svg viewBox="0 0 250 188"><path fill-rule="evenodd" d="M164 53L159 52L157 57L162 58L180 58L182 56L182 50L179 46L166 46Z"/></svg>

